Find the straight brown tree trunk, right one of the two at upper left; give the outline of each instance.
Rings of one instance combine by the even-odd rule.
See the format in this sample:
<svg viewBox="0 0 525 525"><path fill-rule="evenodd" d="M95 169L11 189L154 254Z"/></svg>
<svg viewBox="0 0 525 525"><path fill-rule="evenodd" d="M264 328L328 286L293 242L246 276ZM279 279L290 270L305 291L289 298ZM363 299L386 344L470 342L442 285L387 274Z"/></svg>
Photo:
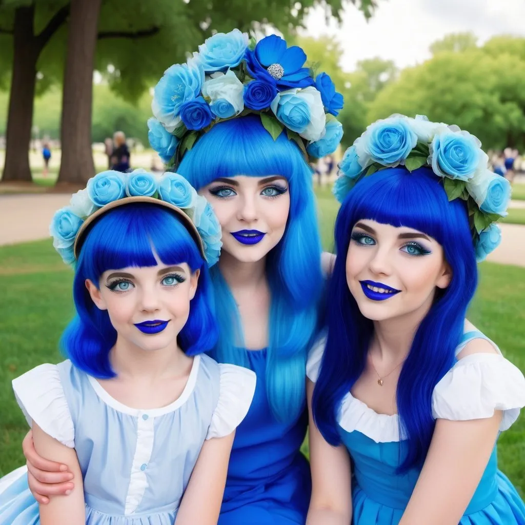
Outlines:
<svg viewBox="0 0 525 525"><path fill-rule="evenodd" d="M91 150L93 68L102 0L71 0L57 183L85 183L95 174Z"/></svg>

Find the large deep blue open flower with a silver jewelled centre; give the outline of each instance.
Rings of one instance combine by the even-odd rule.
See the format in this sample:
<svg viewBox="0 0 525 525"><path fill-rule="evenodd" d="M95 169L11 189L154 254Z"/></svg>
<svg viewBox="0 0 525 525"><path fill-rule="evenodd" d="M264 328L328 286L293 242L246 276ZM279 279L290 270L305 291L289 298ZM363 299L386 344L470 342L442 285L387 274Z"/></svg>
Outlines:
<svg viewBox="0 0 525 525"><path fill-rule="evenodd" d="M279 90L313 86L310 70L303 67L306 54L298 46L287 48L277 35L263 38L253 51L246 51L249 74L258 80L273 83Z"/></svg>

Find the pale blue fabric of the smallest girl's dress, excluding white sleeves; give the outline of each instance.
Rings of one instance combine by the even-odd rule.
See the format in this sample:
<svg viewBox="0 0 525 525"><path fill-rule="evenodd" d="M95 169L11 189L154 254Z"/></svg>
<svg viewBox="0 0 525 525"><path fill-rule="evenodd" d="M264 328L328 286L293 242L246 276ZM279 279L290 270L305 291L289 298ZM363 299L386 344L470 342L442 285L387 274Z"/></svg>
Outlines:
<svg viewBox="0 0 525 525"><path fill-rule="evenodd" d="M174 407L152 411L129 409L132 413L103 401L87 374L70 361L57 365L75 427L87 525L173 525L219 396L218 364L207 355L195 359L200 359L195 385L188 389L182 404L176 406L175 402ZM154 418L151 456L141 468L147 486L133 514L124 516L132 460L138 448L139 418ZM36 415L34 419L38 423ZM0 494L0 525L39 522L38 503L24 475Z"/></svg>

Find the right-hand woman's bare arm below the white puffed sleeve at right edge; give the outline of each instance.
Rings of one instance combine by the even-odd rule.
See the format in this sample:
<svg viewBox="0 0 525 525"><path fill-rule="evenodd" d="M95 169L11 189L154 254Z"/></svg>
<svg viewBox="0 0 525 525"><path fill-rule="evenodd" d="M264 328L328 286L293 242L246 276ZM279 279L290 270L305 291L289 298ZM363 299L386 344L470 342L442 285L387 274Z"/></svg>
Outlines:
<svg viewBox="0 0 525 525"><path fill-rule="evenodd" d="M502 413L437 419L428 454L400 525L457 525L487 466Z"/></svg>

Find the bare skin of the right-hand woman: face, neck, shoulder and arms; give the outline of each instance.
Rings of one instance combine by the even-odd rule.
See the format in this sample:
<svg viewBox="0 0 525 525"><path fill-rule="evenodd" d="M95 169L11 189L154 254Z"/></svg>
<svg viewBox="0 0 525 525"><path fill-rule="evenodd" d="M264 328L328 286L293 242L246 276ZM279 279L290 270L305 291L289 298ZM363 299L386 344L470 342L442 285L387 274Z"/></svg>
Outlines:
<svg viewBox="0 0 525 525"><path fill-rule="evenodd" d="M397 413L397 381L419 323L435 293L451 279L443 248L412 228L360 220L352 229L346 280L364 317L374 322L364 371L351 395L378 414ZM363 281L399 290L379 301L367 297ZM376 286L375 291L381 287ZM383 288L382 290L384 290ZM374 291L374 290L372 290ZM458 354L496 353L490 343L473 340ZM378 377L379 376L379 377ZM383 385L377 381L382 378ZM313 384L308 382L311 398ZM311 410L310 410L311 413ZM496 442L501 412L487 419L438 419L428 454L401 525L456 525L470 502ZM341 446L332 447L310 421L312 498L308 525L348 525L351 471Z"/></svg>

